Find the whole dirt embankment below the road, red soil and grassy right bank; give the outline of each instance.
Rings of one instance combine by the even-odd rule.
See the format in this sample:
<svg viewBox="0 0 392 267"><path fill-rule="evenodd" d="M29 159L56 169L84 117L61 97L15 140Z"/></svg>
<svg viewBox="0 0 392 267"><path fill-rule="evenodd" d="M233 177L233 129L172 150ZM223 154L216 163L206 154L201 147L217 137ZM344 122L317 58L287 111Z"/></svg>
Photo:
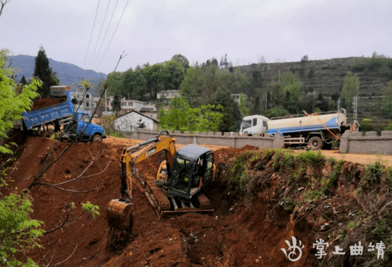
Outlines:
<svg viewBox="0 0 392 267"><path fill-rule="evenodd" d="M81 203L87 201L100 206L101 213L96 219L85 213L67 227L42 237L45 249L36 249L29 255L38 264L117 267L342 266L345 263L345 266L355 266L363 260L355 256L333 256L332 246L340 245L350 253L354 242L362 240L362 244L369 244L381 239L370 234L377 213L389 201L386 173L372 176L361 165L348 162L340 164L338 170L338 162L317 157L301 161L247 146L213 148L218 176L205 194L212 202L214 215L161 218L142 189L134 186L132 239L122 251L108 251L105 207L110 199L120 197L120 153L125 146L136 143L114 138L105 140L101 147L76 143L42 179L68 191L53 186L33 187L32 217L44 221L45 230L64 221L71 202L76 204L71 219L82 213ZM47 151L54 146L50 159L53 160L67 144L29 137L21 158L8 170L9 177L15 180L11 186L18 189L28 186L42 167ZM237 158L244 151L250 152ZM154 177L159 160L160 156L154 155L139 164L140 174ZM361 179L368 174L371 182ZM330 177L335 178L330 180ZM61 184L70 179L75 180ZM74 192L91 189L95 190ZM387 218L386 210L381 210L379 216ZM350 223L351 228L347 227ZM288 249L285 240L290 241L292 236L304 245L301 259L296 262L289 261L281 250ZM320 237L330 242L325 261L316 259L317 251L312 246ZM370 259L369 255L372 254L364 257Z"/></svg>

